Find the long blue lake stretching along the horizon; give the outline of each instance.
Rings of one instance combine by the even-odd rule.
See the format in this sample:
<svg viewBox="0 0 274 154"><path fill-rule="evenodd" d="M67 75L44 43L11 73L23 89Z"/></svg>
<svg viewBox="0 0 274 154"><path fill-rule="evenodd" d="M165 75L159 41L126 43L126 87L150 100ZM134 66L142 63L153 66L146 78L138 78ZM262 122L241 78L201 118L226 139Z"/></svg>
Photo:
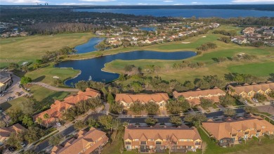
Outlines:
<svg viewBox="0 0 274 154"><path fill-rule="evenodd" d="M172 16L190 18L207 17L273 17L273 11L255 11L255 10L233 10L233 9L74 9L80 12L100 12L100 13L124 13L133 15L153 15L153 16Z"/></svg>

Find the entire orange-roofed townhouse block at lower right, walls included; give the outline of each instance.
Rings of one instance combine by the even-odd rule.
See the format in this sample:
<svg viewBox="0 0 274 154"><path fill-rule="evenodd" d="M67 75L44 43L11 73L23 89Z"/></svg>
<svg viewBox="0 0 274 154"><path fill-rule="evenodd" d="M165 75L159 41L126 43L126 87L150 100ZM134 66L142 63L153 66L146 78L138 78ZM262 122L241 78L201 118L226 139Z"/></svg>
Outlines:
<svg viewBox="0 0 274 154"><path fill-rule="evenodd" d="M274 131L273 124L254 115L237 119L228 117L223 121L209 119L207 122L202 122L202 127L218 141L220 146L230 146L253 136L273 134Z"/></svg>

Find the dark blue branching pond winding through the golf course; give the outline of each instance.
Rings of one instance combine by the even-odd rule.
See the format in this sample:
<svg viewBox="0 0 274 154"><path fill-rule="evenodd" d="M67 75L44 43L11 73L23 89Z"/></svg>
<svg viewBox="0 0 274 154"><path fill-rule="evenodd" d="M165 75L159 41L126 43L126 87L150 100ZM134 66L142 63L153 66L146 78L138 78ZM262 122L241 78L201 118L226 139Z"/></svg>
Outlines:
<svg viewBox="0 0 274 154"><path fill-rule="evenodd" d="M91 76L96 82L111 82L119 77L117 73L104 72L102 68L105 63L112 60L138 60L138 59L160 59L160 60L181 60L195 56L193 51L178 51L178 52L157 52L157 51L131 51L126 53L117 53L115 55L107 55L98 58L86 60L67 60L55 65L56 68L73 68L81 70L81 74L74 79L69 79L65 82L68 86L71 83L77 83L80 80L89 80Z"/></svg>

